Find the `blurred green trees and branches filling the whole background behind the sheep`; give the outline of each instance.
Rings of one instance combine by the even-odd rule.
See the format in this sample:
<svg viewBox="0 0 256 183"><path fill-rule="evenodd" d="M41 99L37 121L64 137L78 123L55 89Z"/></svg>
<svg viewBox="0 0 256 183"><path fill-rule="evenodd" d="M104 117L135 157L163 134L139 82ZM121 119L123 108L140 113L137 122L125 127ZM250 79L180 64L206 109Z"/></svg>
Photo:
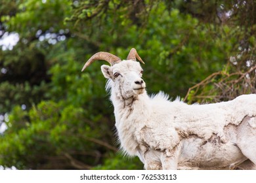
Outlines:
<svg viewBox="0 0 256 183"><path fill-rule="evenodd" d="M254 0L1 0L0 169L143 169L118 151L96 61L136 48L148 93L256 93Z"/></svg>

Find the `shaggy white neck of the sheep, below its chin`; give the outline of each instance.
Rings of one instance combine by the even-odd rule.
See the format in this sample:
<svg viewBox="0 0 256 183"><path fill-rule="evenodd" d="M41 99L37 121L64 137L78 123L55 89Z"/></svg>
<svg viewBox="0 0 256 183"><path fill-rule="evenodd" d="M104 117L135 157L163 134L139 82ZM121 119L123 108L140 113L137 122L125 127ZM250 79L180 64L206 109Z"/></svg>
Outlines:
<svg viewBox="0 0 256 183"><path fill-rule="evenodd" d="M127 99L119 96L119 93L112 92L118 139L121 149L135 156L140 147L134 134L146 125L146 118L150 118L150 98L146 92Z"/></svg>

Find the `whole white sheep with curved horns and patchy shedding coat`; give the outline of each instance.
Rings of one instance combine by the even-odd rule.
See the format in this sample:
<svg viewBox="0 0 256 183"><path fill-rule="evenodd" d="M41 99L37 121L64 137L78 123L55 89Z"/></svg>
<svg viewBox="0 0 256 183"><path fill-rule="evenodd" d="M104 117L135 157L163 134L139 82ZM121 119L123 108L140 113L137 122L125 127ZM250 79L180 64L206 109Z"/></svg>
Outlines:
<svg viewBox="0 0 256 183"><path fill-rule="evenodd" d="M108 78L121 150L139 156L145 169L256 168L256 95L228 102L187 105L160 92L146 93L142 59L132 48L127 60L98 52L85 63L108 61ZM246 162L243 164L243 162Z"/></svg>

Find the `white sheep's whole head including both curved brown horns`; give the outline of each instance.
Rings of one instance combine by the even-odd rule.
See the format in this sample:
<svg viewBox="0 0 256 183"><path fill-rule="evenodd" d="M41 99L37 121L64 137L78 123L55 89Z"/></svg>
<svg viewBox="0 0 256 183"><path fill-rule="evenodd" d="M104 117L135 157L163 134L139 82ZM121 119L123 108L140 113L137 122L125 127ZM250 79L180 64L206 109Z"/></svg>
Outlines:
<svg viewBox="0 0 256 183"><path fill-rule="evenodd" d="M123 61L110 53L98 52L85 63L82 71L95 60L101 59L108 61L111 66L101 66L104 77L112 81L112 89L115 88L114 90L121 97L129 98L144 93L146 88L146 84L141 78L143 69L140 67L140 63L136 61L136 58L144 63L135 48L131 49L127 59Z"/></svg>

